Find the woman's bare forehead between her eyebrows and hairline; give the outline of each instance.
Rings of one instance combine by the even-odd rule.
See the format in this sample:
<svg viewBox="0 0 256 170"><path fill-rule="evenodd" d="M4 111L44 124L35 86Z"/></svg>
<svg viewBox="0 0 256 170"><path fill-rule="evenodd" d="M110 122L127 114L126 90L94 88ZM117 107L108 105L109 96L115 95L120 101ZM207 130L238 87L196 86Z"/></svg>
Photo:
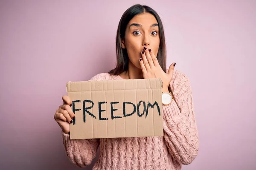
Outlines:
<svg viewBox="0 0 256 170"><path fill-rule="evenodd" d="M131 23L138 23L144 26L151 26L154 23L157 23L156 18L154 17L154 15L149 14L149 13L143 13L143 14L138 14L135 15L129 22L129 24Z"/></svg>

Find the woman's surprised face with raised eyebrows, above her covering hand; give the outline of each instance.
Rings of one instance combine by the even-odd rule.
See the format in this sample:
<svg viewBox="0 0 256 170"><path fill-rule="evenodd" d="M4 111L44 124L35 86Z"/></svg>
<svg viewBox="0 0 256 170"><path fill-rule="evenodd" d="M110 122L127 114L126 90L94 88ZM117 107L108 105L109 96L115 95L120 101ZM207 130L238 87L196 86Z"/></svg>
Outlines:
<svg viewBox="0 0 256 170"><path fill-rule="evenodd" d="M157 56L160 38L158 23L154 15L149 13L138 14L128 23L125 30L125 40L122 40L122 48L126 48L129 60L137 68L140 68L139 59L143 47L151 49Z"/></svg>

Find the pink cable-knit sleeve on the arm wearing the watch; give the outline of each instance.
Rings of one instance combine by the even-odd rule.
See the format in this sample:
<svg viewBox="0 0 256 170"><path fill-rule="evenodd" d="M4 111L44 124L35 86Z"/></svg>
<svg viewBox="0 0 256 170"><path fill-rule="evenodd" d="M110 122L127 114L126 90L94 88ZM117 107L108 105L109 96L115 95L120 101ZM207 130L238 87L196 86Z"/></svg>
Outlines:
<svg viewBox="0 0 256 170"><path fill-rule="evenodd" d="M176 71L171 88L177 104L163 105L164 139L169 152L182 164L190 164L198 154L199 139L192 90L188 77Z"/></svg>

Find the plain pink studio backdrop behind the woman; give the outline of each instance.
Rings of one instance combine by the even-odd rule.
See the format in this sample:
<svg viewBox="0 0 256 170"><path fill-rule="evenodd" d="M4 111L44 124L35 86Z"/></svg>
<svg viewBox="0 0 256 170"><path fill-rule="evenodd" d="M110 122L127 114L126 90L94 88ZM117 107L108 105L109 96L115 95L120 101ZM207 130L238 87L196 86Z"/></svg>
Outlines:
<svg viewBox="0 0 256 170"><path fill-rule="evenodd" d="M80 169L53 115L66 82L114 67L117 25L137 3L158 12L167 66L192 85L200 150L183 170L256 169L255 0L1 0L0 169Z"/></svg>

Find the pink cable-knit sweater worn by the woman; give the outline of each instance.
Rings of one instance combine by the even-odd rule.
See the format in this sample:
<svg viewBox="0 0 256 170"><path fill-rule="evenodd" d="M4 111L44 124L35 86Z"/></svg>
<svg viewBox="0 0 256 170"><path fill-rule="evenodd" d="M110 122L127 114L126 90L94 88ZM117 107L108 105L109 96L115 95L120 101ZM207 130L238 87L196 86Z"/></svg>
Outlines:
<svg viewBox="0 0 256 170"><path fill-rule="evenodd" d="M116 80L120 76L97 74L91 81ZM68 158L79 167L99 160L93 170L180 170L198 154L199 139L193 107L192 90L188 77L175 70L171 88L177 104L163 105L162 137L134 137L70 140L62 132Z"/></svg>

